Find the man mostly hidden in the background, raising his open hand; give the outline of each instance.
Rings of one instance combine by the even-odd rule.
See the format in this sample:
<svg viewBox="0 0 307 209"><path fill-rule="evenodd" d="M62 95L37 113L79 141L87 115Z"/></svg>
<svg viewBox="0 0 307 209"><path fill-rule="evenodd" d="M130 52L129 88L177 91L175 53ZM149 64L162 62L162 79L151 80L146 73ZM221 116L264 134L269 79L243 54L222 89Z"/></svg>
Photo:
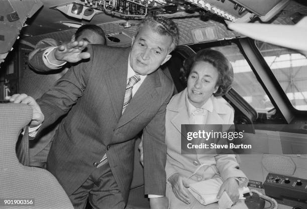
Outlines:
<svg viewBox="0 0 307 209"><path fill-rule="evenodd" d="M29 54L29 65L32 66L34 71L26 69L21 73L20 92L38 99L52 88L56 81L68 70L69 64L65 65L65 61L78 61L76 56L74 56L75 53L69 51L72 51L74 49L73 46L77 45L80 41L82 41L84 46L82 45L81 48L79 46L78 51L85 48L87 44L104 45L105 35L103 30L96 25L83 25L78 28L68 43L60 45L59 42L50 38L39 41L35 49ZM66 54L66 56L61 56L61 54ZM54 60L56 57L64 59L60 65L53 65L53 63L57 63L57 60ZM43 66L41 65L42 62L44 63ZM29 141L30 166L46 168L47 156L59 122L60 120L44 129L44 131L41 131L35 140Z"/></svg>

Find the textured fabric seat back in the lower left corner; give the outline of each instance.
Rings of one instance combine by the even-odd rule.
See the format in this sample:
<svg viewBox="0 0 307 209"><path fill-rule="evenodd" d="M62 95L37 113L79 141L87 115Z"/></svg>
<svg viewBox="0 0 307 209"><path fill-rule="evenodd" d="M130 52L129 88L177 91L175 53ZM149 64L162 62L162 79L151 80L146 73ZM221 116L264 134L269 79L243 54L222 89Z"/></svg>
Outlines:
<svg viewBox="0 0 307 209"><path fill-rule="evenodd" d="M73 209L64 189L50 172L24 166L17 159L18 136L31 118L32 108L26 104L0 104L0 197L32 199L33 204L27 208Z"/></svg>

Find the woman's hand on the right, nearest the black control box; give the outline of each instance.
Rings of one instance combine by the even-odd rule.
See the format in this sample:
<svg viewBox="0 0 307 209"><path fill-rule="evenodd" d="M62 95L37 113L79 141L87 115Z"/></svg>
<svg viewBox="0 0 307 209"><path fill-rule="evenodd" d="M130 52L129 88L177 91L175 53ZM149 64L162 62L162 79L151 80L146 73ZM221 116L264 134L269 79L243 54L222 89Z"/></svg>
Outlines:
<svg viewBox="0 0 307 209"><path fill-rule="evenodd" d="M226 181L221 185L220 190L216 198L221 198L223 192L226 191L233 203L236 203L239 199L239 184L234 178L227 178Z"/></svg>

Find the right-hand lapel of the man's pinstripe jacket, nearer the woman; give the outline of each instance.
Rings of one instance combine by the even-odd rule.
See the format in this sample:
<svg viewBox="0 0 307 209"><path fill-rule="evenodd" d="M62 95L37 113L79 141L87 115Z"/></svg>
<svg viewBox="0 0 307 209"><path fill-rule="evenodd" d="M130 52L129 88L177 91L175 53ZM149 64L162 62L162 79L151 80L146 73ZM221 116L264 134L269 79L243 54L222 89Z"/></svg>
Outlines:
<svg viewBox="0 0 307 209"><path fill-rule="evenodd" d="M161 87L158 71L147 75L122 114L117 128L125 125L145 109L148 109L148 107L154 104L158 97L158 92L156 90L158 87Z"/></svg>

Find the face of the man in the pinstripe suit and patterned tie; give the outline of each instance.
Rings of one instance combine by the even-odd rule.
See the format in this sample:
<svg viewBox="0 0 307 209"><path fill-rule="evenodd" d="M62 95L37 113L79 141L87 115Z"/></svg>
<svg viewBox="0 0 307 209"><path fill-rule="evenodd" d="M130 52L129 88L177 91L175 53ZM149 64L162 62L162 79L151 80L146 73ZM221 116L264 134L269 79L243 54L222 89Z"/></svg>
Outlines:
<svg viewBox="0 0 307 209"><path fill-rule="evenodd" d="M172 37L156 33L150 26L143 26L138 32L130 52L130 66L139 75L148 75L167 62Z"/></svg>

